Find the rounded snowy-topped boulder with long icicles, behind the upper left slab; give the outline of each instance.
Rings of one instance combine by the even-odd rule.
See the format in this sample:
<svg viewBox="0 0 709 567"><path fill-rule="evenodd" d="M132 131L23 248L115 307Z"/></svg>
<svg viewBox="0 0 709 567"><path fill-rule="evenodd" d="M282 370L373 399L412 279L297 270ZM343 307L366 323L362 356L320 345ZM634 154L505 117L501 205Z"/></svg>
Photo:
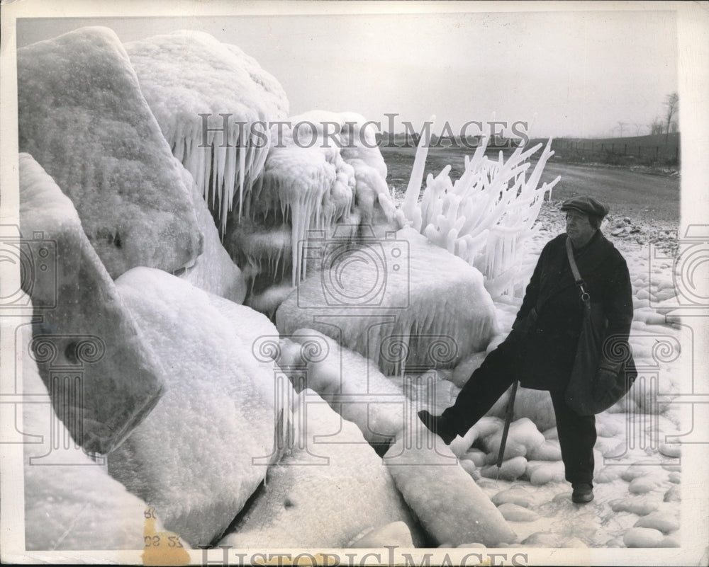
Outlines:
<svg viewBox="0 0 709 567"><path fill-rule="evenodd" d="M162 134L224 234L237 190L240 213L264 166L268 123L286 118L283 88L239 47L208 33L156 35L125 50Z"/></svg>

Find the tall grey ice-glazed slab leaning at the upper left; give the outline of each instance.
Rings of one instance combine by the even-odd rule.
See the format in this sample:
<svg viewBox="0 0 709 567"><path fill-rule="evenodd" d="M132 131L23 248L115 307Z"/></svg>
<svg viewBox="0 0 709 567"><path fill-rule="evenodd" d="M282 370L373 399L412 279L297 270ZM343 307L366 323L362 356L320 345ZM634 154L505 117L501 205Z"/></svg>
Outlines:
<svg viewBox="0 0 709 567"><path fill-rule="evenodd" d="M81 28L17 52L18 132L77 208L111 277L201 251L191 195L123 45Z"/></svg>

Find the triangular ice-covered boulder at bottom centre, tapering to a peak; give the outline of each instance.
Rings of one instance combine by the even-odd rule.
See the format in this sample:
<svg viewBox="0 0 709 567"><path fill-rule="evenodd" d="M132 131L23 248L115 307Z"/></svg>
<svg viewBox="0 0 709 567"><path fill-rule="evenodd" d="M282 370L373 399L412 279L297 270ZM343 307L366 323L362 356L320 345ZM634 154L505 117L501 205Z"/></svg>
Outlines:
<svg viewBox="0 0 709 567"><path fill-rule="evenodd" d="M390 525L386 533L370 532L372 541L396 545L406 532L411 545L413 531L420 544L420 532L389 471L357 426L312 390L303 390L297 405L294 422L301 428L294 447L269 469L264 488L220 544L345 547L372 525Z"/></svg>

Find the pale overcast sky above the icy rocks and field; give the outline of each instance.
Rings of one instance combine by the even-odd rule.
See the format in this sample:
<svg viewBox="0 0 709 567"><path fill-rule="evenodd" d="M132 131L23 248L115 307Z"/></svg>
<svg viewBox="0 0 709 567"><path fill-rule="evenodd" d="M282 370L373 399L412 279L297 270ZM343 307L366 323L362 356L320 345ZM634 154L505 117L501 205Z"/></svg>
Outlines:
<svg viewBox="0 0 709 567"><path fill-rule="evenodd" d="M353 110L382 130L384 113L417 130L435 114L440 131L494 112L507 122L536 115L540 136L619 134L618 122L635 135L677 90L670 11L32 18L18 21L18 47L84 25L106 25L124 41L206 31L276 76L291 114Z"/></svg>

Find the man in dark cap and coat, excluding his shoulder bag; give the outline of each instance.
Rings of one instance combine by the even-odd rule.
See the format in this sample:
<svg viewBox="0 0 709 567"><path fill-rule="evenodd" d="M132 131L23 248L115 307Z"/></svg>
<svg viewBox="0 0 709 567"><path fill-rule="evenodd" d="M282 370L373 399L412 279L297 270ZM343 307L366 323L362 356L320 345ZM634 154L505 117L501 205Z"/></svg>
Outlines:
<svg viewBox="0 0 709 567"><path fill-rule="evenodd" d="M630 274L625 259L599 227L608 206L593 197L574 197L562 204L566 233L549 241L527 285L512 331L471 375L453 406L441 416L420 411L425 425L449 445L484 416L510 384L548 390L557 419L559 445L575 503L593 500L593 445L596 419L581 416L564 401L576 357L584 305L571 273L566 239L591 302L600 302L607 326L603 339L627 341L632 323ZM596 381L612 385L620 363L601 358ZM632 360L629 363L632 365ZM603 393L601 388L601 394Z"/></svg>

